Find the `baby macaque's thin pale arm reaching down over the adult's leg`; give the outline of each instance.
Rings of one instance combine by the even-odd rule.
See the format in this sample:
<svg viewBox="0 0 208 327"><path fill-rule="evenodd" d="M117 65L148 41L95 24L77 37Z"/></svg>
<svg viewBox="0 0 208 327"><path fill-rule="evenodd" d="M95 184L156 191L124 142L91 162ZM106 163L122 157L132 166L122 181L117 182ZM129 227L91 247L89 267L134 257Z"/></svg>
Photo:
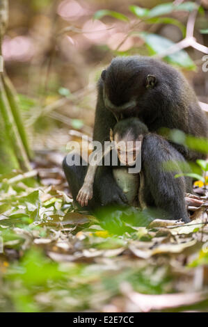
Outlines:
<svg viewBox="0 0 208 327"><path fill-rule="evenodd" d="M107 147L104 150L104 154L101 156L101 159L106 156L107 153L109 153L112 149L112 146ZM99 152L95 151L94 152L94 156L95 155L100 155ZM97 165L90 165L88 166L88 171L86 173L86 177L84 179L83 182L83 186L81 187L81 189L79 190L79 193L77 194L77 201L79 202L79 204L81 205L81 207L87 206L88 205L88 201L91 200L93 198L93 182L95 179L95 173L97 170Z"/></svg>

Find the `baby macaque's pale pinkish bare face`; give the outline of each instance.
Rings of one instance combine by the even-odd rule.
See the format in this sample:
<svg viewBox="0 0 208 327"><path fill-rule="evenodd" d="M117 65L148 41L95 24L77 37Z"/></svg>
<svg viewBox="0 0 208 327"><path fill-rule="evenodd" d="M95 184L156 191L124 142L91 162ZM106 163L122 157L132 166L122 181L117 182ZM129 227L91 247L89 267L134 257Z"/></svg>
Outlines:
<svg viewBox="0 0 208 327"><path fill-rule="evenodd" d="M134 166L136 158L141 152L143 135L138 135L138 137L135 138L131 130L129 130L125 136L121 137L119 133L116 133L113 137L113 131L111 130L110 139L111 142L115 142L115 149L118 152L120 163L125 166Z"/></svg>

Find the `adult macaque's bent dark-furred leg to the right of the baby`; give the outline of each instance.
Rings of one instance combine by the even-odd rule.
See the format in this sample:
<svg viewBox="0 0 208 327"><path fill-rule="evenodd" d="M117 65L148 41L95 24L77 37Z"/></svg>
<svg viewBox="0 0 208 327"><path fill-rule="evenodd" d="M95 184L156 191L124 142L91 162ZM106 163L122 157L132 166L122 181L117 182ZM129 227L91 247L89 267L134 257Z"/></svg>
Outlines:
<svg viewBox="0 0 208 327"><path fill-rule="evenodd" d="M182 173L179 163L186 162L182 154L161 136L147 134L143 138L141 159L145 180L143 198L147 207L164 209L170 219L182 218L189 222L185 194L191 193L191 180L189 177L175 178L175 174ZM163 167L167 161L174 164L173 171Z"/></svg>

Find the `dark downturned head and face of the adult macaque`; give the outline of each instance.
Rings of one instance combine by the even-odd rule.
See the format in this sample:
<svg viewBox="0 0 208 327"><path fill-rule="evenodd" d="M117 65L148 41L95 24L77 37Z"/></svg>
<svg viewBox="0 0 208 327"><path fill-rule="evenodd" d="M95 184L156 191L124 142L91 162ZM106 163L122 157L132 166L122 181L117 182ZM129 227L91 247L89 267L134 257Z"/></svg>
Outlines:
<svg viewBox="0 0 208 327"><path fill-rule="evenodd" d="M104 104L117 121L135 117L140 109L141 97L157 83L156 77L147 68L138 69L119 61L113 61L101 77L104 82Z"/></svg>

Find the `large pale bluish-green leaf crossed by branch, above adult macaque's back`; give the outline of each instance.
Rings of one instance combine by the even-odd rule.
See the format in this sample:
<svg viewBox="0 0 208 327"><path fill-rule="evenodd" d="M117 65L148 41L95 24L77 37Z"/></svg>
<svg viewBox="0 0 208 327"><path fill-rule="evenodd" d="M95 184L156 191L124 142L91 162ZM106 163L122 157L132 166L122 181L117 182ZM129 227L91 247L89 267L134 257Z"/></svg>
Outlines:
<svg viewBox="0 0 208 327"><path fill-rule="evenodd" d="M163 36L153 34L153 33L146 33L141 32L139 33L143 40L145 40L145 43L150 50L151 54L161 54L163 51L166 51L169 47L172 47L175 45L174 42L168 40L167 38L163 38ZM174 54L170 54L165 57L166 61L169 63L172 63L173 65L178 65L180 67L185 67L189 70L195 69L195 64L189 57L189 54L187 54L184 50L179 50L175 52Z"/></svg>

